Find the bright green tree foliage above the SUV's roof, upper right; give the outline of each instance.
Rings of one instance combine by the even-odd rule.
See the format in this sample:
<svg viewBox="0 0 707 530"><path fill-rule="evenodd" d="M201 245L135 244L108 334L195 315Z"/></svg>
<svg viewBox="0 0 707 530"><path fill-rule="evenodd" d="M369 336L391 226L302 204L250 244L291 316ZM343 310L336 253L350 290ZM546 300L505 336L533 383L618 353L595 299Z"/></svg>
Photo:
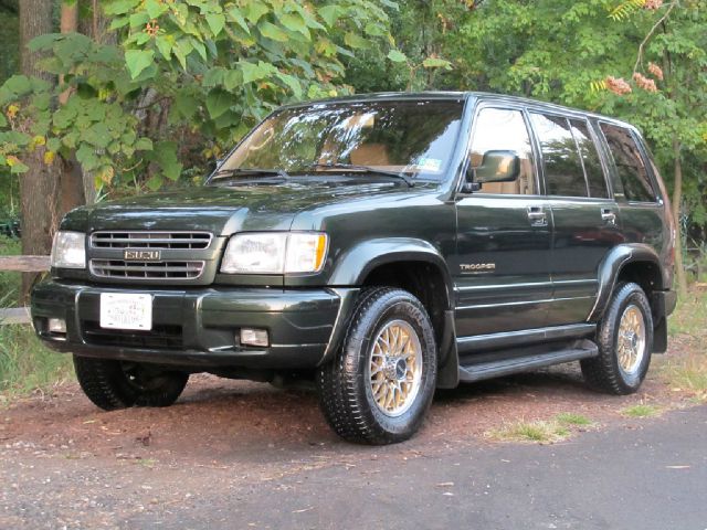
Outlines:
<svg viewBox="0 0 707 530"><path fill-rule="evenodd" d="M457 31L442 46L455 66L445 80L458 88L537 97L626 119L648 139L668 183L677 142L690 206L684 211L703 221L707 9L694 0L654 9L657 3L487 0L457 13ZM631 92L612 92L610 76L626 77Z"/></svg>

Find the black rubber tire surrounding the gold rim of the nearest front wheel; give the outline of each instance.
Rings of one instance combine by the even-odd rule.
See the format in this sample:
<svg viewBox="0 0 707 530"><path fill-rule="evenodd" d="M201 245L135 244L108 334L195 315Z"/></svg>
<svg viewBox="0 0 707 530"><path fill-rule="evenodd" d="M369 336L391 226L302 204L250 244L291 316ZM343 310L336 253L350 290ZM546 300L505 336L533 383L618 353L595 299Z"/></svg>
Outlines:
<svg viewBox="0 0 707 530"><path fill-rule="evenodd" d="M416 394L409 400L407 409L401 407L400 415L391 416L376 402L367 374L370 374L370 354L379 332L400 320L416 335L422 369ZM404 377L405 370L407 362ZM331 428L349 442L370 445L403 442L424 421L434 395L436 371L434 329L420 300L402 289L373 287L361 293L334 361L317 371L319 404Z"/></svg>

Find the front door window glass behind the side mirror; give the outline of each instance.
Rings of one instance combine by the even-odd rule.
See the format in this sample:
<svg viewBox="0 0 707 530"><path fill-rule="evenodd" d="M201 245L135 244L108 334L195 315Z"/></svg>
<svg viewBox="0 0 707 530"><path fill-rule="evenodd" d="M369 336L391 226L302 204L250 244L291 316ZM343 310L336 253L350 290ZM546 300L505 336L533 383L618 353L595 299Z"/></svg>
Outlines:
<svg viewBox="0 0 707 530"><path fill-rule="evenodd" d="M535 195L535 165L530 135L520 110L483 108L476 116L471 148L471 165L482 166L488 151L515 151L520 159L520 173L510 182L484 182L476 193Z"/></svg>

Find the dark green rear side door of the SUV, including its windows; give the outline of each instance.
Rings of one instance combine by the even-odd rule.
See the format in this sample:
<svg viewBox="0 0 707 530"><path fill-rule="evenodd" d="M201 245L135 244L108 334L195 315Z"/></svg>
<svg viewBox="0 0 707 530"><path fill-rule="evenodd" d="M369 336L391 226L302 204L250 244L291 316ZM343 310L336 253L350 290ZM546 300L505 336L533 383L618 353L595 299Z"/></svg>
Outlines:
<svg viewBox="0 0 707 530"><path fill-rule="evenodd" d="M594 305L599 265L621 242L619 211L583 117L531 110L552 212L552 304L548 326L581 322Z"/></svg>

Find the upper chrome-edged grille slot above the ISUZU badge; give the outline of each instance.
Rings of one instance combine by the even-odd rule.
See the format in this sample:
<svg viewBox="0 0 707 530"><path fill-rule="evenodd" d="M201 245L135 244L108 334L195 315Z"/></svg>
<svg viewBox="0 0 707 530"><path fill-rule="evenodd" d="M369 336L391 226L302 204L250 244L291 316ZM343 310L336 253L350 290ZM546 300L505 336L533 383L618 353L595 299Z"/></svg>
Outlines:
<svg viewBox="0 0 707 530"><path fill-rule="evenodd" d="M91 246L94 248L208 248L209 232L94 232Z"/></svg>

